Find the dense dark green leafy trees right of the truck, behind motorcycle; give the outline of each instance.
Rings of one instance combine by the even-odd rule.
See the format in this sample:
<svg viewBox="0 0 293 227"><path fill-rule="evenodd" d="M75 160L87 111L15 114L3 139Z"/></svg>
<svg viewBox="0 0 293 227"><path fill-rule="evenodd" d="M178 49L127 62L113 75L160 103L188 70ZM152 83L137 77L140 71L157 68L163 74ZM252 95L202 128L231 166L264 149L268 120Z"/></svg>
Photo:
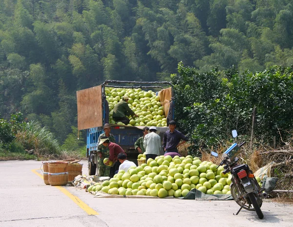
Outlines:
<svg viewBox="0 0 293 227"><path fill-rule="evenodd" d="M233 129L249 136L252 109L256 108L254 134L272 143L272 136L284 139L293 120L293 68L271 67L252 74L238 74L230 68L197 73L178 64L171 76L176 103L175 116L182 130L191 134L194 148L217 146L231 138ZM180 117L179 117L180 116Z"/></svg>

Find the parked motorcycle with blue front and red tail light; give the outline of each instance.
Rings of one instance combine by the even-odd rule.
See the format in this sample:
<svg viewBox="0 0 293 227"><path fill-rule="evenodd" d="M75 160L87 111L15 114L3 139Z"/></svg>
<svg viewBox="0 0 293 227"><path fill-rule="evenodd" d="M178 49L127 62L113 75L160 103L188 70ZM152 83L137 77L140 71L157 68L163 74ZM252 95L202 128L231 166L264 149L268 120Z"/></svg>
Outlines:
<svg viewBox="0 0 293 227"><path fill-rule="evenodd" d="M237 137L237 131L233 130L232 135ZM231 173L230 190L235 202L240 206L235 215L241 211L242 208L255 211L259 219L263 219L264 215L260 209L262 200L268 196L264 187L260 187L255 179L253 172L247 164L238 164L240 148L245 142L237 144L233 143L224 153L223 160L219 166L224 165L223 174ZM215 157L218 157L216 152L211 152ZM217 168L218 168L217 167Z"/></svg>

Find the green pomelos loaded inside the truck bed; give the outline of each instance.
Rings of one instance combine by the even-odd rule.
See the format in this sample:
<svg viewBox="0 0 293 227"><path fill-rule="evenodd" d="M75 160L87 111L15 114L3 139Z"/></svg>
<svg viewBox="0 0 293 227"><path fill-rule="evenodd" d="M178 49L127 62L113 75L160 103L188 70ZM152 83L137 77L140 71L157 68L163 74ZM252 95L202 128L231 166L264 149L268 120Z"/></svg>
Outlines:
<svg viewBox="0 0 293 227"><path fill-rule="evenodd" d="M138 118L129 117L129 126L167 126L167 119L164 115L164 108L160 97L155 92L143 91L141 88L105 88L106 100L109 104L109 123L115 124L113 120L113 108L123 96L128 96L128 106L137 114ZM118 124L124 125L122 122Z"/></svg>

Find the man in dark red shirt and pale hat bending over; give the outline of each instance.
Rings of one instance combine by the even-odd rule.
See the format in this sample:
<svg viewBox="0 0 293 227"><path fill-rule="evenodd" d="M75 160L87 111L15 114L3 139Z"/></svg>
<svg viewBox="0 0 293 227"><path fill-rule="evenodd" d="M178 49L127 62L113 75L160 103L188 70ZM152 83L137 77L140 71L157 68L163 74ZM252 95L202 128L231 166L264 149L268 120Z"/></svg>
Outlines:
<svg viewBox="0 0 293 227"><path fill-rule="evenodd" d="M126 155L126 153L122 149L121 146L110 142L106 136L101 137L101 141L99 145L103 145L106 148L109 148L109 160L105 163L105 165L108 165L110 161L114 163L114 165L110 168L110 175L109 175L109 177L112 178L115 174L115 171L119 169L119 165L121 164L117 158L118 154L123 153Z"/></svg>

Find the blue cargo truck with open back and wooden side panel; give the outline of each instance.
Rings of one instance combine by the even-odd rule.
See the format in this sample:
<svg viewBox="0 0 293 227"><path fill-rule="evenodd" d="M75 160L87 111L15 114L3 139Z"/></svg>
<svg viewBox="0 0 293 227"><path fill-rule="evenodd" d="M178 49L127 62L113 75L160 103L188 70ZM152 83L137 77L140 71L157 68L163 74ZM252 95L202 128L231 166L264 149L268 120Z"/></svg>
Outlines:
<svg viewBox="0 0 293 227"><path fill-rule="evenodd" d="M99 136L104 133L103 125L109 123L108 102L105 89L112 88L141 88L154 89L160 96L164 107L167 122L174 119L173 85L169 82L136 82L106 80L104 83L79 90L77 94L78 130L86 130L86 158L88 160L88 174L98 173L97 149ZM111 134L114 135L116 144L119 144L127 154L127 159L137 165L138 151L134 143L143 136L145 126L111 125ZM157 127L161 140L168 129L167 126ZM162 150L163 154L163 150Z"/></svg>

